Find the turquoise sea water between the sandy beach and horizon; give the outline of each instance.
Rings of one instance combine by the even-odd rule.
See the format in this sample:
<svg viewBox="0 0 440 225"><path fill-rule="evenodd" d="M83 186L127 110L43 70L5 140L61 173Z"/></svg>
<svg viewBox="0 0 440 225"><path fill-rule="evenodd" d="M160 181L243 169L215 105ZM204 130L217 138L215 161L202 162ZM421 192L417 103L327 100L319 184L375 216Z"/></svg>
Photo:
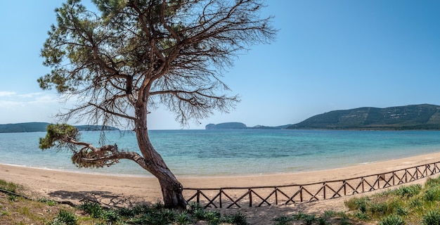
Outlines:
<svg viewBox="0 0 440 225"><path fill-rule="evenodd" d="M0 134L0 163L47 169L151 176L129 160L77 169L64 151L39 150L44 132ZM138 151L136 136L106 133L108 144ZM82 139L98 146L99 132ZM153 130L150 139L178 176L304 172L406 158L440 151L440 131Z"/></svg>

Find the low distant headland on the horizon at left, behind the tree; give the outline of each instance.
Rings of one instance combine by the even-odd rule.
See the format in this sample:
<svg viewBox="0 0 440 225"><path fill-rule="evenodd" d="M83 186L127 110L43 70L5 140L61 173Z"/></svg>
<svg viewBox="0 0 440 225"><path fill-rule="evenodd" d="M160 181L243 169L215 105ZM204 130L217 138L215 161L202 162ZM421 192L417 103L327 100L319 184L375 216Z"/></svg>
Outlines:
<svg viewBox="0 0 440 225"><path fill-rule="evenodd" d="M21 132L41 132L46 131L48 122L22 122L17 124L0 124L0 133L21 133ZM75 126L80 131L101 131L102 126L80 125ZM115 127L105 127L104 130L118 130Z"/></svg>

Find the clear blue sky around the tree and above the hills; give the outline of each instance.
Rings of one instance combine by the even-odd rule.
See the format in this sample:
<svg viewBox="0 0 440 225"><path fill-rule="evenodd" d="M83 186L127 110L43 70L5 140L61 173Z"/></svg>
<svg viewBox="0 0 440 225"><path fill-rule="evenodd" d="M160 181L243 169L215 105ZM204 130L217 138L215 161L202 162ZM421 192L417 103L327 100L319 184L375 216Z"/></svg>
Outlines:
<svg viewBox="0 0 440 225"><path fill-rule="evenodd" d="M53 122L65 105L36 82L40 49L63 1L0 1L0 124ZM84 4L90 4L84 1ZM440 1L272 0L276 42L253 46L224 73L241 102L202 124L277 126L330 110L440 105ZM150 129L181 129L153 111Z"/></svg>

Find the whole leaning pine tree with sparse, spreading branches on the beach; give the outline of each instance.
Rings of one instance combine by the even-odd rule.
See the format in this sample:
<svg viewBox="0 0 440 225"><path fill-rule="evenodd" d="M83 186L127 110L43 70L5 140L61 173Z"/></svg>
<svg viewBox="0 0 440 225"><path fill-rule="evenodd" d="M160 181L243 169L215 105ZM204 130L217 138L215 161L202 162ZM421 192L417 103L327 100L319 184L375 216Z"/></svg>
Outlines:
<svg viewBox="0 0 440 225"><path fill-rule="evenodd" d="M184 209L183 186L150 141L148 114L162 106L186 126L228 113L239 98L225 94L223 72L250 46L273 41L277 30L270 16L261 18L260 0L92 3L96 10L80 0L56 8L57 23L41 49L51 72L38 79L39 86L75 100L56 115L59 121L133 130L140 153L81 142L67 124L48 128L41 147L67 147L78 167L132 160L159 179L166 207ZM100 145L103 140L104 131Z"/></svg>

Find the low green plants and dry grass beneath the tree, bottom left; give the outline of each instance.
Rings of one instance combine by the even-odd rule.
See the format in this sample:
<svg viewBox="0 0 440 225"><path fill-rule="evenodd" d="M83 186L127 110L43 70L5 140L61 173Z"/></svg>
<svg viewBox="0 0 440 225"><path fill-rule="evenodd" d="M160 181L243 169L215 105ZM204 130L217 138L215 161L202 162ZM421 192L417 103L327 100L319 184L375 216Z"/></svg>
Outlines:
<svg viewBox="0 0 440 225"><path fill-rule="evenodd" d="M108 208L98 203L84 202L72 207L56 203L48 198L18 197L15 202L6 198L6 194L0 194L0 224L2 225L249 224L247 217L240 212L221 214L215 210L205 210L196 203L190 203L187 210L176 210L157 203Z"/></svg>

